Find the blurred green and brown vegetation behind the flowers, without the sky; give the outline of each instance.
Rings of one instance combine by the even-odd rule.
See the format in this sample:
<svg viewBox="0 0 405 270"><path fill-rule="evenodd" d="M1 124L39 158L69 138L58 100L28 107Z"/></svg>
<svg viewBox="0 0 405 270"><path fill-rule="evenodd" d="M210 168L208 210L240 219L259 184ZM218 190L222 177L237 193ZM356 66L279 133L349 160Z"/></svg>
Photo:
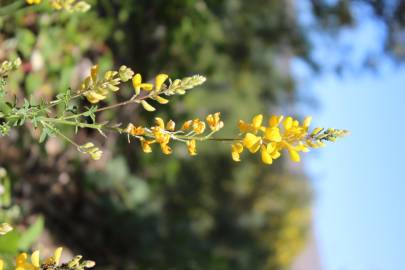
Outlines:
<svg viewBox="0 0 405 270"><path fill-rule="evenodd" d="M85 14L26 7L0 17L0 59L23 59L8 86L19 99L50 100L75 89L92 63L102 69L125 64L146 77L200 73L208 83L159 115L180 122L221 111L226 133L235 128L230 123L257 112L295 113L291 60L322 70L297 2L100 0ZM354 26L356 6L364 5L387 26L387 39L378 41L385 42L387 55L403 60L404 1L329 2L308 1L311 31L334 35ZM152 121L136 106L102 117ZM286 269L305 245L311 190L301 169L291 170L285 161L235 164L227 145L204 146L195 158L182 149L170 158L144 155L125 138L111 134L105 141L79 132L78 142L99 137L107 153L93 162L55 138L33 143L39 135L21 127L0 140L0 165L7 172L0 175L0 214L23 224L25 245L36 239L49 248L63 245L94 259L99 269ZM18 238L1 238L0 253L23 248L17 240L7 247L6 237Z"/></svg>

